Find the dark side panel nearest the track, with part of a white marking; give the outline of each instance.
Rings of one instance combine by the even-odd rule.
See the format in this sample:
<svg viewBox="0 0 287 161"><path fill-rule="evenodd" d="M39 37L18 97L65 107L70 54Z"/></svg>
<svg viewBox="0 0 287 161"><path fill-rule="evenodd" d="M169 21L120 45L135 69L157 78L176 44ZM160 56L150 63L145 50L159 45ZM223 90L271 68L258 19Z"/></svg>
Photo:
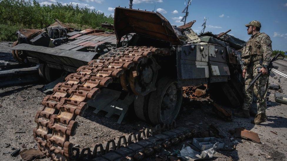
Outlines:
<svg viewBox="0 0 287 161"><path fill-rule="evenodd" d="M178 47L177 68L181 86L207 84L208 46L198 44Z"/></svg>

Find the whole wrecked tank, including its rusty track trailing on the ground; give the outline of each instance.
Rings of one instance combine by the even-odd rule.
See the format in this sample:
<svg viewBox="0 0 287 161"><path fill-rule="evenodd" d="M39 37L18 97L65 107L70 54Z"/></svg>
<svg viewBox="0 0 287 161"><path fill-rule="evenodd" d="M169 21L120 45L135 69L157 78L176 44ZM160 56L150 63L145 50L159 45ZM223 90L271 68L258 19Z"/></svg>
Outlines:
<svg viewBox="0 0 287 161"><path fill-rule="evenodd" d="M53 91L35 116L39 149L62 161L140 159L191 137L174 122L182 87L205 84L214 100L240 106L243 79L237 50L245 42L226 33L197 35L191 29L194 22L176 27L160 13L117 7L114 26L103 24L114 28L110 33L75 31L59 21L45 31L19 30L14 57L37 64L50 82L46 90ZM134 108L139 119L162 126L80 152L69 138L76 133L76 117L89 106L95 113L108 112L107 117L119 115L118 123Z"/></svg>

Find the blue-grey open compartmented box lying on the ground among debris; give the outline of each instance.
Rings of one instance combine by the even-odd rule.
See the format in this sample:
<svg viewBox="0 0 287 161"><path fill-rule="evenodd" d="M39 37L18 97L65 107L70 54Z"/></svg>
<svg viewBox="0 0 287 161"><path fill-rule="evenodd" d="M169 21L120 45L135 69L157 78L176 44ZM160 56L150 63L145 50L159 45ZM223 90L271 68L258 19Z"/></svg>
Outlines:
<svg viewBox="0 0 287 161"><path fill-rule="evenodd" d="M224 143L215 137L193 138L192 140L192 144L201 151L213 148L213 145L217 142L218 142L217 149L221 149L224 147Z"/></svg>

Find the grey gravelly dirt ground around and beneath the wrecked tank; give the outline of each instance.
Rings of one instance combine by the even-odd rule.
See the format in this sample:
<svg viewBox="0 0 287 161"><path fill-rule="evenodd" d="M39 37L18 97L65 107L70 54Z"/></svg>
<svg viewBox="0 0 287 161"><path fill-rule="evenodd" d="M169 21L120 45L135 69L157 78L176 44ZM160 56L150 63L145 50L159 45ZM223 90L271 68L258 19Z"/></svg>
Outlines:
<svg viewBox="0 0 287 161"><path fill-rule="evenodd" d="M11 42L0 42L0 60L16 63L11 57ZM287 74L286 62L278 61L278 71ZM270 84L279 84L282 94L287 94L287 78L276 74L269 80ZM41 101L46 94L41 91L45 82L15 86L0 89L0 160L22 160L20 155L12 157L10 154L16 149L37 148L32 135L36 127L34 116L37 110L42 108ZM213 123L223 136L221 140L226 148L236 145L236 150L218 150L211 160L287 160L287 105L276 103L274 100L275 90L268 90L268 98L271 102L266 110L268 121L261 125L251 123L251 118L233 117L232 122L226 122L218 118L212 112L211 101L195 101L183 99L183 105L176 119L177 126L184 126L196 131L206 131ZM225 107L230 111L236 109ZM256 108L256 103L253 103ZM118 138L131 132L136 132L148 123L138 121L130 116L123 124L116 123L118 117L106 118L104 114L95 114L93 109L88 109L83 117L77 117L79 122L77 134L70 140L74 145L81 148L91 147L97 143L103 143L109 139ZM250 140L234 138L228 130L245 127L247 130L258 133L261 144ZM277 133L278 135L272 133ZM180 148L183 143L175 148ZM173 151L171 151L173 152ZM153 160L149 158L148 160ZM49 160L44 158L41 160Z"/></svg>

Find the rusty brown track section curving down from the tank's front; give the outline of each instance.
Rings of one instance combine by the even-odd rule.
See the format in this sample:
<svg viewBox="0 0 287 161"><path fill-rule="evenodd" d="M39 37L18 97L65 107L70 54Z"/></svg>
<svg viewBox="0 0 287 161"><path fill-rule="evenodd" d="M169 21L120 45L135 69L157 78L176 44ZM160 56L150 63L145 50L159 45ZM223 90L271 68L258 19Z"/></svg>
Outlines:
<svg viewBox="0 0 287 161"><path fill-rule="evenodd" d="M118 48L79 67L76 73L65 78L66 82L57 84L54 93L44 98L44 108L35 116L37 127L33 135L39 149L53 160L73 160L73 144L69 137L76 133L76 116L82 116L88 108L86 101L94 99L99 88L107 87L113 78L152 54L169 55L170 52L167 48Z"/></svg>

